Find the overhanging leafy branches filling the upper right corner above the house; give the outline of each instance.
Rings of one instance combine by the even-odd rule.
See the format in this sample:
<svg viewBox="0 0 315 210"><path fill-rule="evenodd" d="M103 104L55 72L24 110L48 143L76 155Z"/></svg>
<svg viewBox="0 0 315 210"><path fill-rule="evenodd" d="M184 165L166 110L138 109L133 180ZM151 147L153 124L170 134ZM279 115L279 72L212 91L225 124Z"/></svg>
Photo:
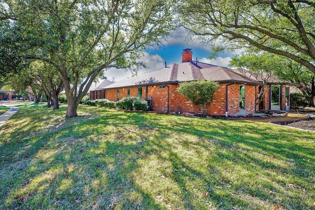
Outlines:
<svg viewBox="0 0 315 210"><path fill-rule="evenodd" d="M181 0L182 25L220 49L268 51L315 73L314 0ZM223 45L225 44L225 45Z"/></svg>

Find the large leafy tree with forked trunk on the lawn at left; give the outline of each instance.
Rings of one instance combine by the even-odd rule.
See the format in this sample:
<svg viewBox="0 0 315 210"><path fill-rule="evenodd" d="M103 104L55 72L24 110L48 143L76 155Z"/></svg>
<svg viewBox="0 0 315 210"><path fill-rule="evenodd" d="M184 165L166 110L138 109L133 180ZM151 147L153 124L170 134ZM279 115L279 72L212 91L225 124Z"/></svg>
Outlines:
<svg viewBox="0 0 315 210"><path fill-rule="evenodd" d="M173 29L168 0L2 2L0 39L6 44L0 47L1 68L14 71L22 60L54 66L67 97L66 117L77 116L102 70L137 69L143 50Z"/></svg>

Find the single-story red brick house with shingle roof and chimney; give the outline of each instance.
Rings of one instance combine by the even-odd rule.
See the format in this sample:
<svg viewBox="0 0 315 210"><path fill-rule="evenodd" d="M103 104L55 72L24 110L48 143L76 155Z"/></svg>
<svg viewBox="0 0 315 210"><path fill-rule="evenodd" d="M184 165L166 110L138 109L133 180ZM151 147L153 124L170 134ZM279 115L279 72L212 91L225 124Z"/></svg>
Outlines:
<svg viewBox="0 0 315 210"><path fill-rule="evenodd" d="M261 82L226 67L194 61L191 49L184 50L181 63L165 64L164 68L127 77L106 86L102 89L103 98L118 101L126 96L137 96L151 100L153 111L199 113L198 107L177 91L181 82L197 80L212 80L220 85L208 114L247 115L259 108L255 105L255 98L259 86L263 85Z"/></svg>

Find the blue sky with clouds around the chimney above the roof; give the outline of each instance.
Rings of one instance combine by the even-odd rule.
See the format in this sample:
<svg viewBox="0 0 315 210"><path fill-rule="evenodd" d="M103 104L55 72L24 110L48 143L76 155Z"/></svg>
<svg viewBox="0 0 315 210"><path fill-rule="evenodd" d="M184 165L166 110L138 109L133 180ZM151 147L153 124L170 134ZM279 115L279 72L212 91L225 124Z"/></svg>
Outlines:
<svg viewBox="0 0 315 210"><path fill-rule="evenodd" d="M187 39L188 32L186 30L177 30L168 36L166 40L163 41L163 45L149 48L144 52L144 58L141 59L146 64L146 68L139 69L138 73L146 71L154 71L172 63L182 62L182 52L183 49L190 48L192 52L192 59L200 62L211 63L214 65L220 65L226 67L229 61L233 57L233 53L225 52L219 53L214 59L210 60L211 47L209 44L202 43L197 39ZM107 79L115 79L115 82L131 76L130 71L124 69L108 69L105 72Z"/></svg>

